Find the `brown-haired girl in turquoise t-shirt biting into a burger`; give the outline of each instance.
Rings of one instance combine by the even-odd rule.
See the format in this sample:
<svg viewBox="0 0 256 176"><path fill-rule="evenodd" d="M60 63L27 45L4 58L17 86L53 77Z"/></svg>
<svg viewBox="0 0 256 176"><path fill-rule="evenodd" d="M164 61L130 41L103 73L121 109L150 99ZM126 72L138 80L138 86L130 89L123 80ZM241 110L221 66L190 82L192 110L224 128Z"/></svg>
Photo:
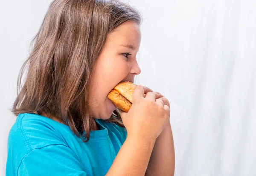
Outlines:
<svg viewBox="0 0 256 176"><path fill-rule="evenodd" d="M138 85L120 113L107 98L140 74L140 21L116 0L51 3L20 72L6 176L174 175L168 100Z"/></svg>

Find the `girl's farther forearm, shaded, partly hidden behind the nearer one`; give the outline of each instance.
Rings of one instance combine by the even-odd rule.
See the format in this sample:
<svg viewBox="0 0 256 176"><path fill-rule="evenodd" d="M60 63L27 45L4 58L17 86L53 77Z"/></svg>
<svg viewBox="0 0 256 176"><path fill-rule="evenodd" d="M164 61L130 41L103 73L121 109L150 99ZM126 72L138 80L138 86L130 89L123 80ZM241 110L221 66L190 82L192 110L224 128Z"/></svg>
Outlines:
<svg viewBox="0 0 256 176"><path fill-rule="evenodd" d="M175 151L171 124L158 136L146 170L146 176L173 176Z"/></svg>

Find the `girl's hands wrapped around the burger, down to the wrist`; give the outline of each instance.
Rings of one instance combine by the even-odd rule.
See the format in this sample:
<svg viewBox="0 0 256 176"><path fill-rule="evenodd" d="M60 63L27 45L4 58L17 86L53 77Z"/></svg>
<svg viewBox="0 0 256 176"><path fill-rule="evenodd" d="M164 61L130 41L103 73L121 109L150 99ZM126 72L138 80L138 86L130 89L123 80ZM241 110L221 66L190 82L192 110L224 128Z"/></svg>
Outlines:
<svg viewBox="0 0 256 176"><path fill-rule="evenodd" d="M145 96L144 96L145 95ZM148 87L136 86L133 104L121 118L129 136L156 140L169 121L169 101Z"/></svg>

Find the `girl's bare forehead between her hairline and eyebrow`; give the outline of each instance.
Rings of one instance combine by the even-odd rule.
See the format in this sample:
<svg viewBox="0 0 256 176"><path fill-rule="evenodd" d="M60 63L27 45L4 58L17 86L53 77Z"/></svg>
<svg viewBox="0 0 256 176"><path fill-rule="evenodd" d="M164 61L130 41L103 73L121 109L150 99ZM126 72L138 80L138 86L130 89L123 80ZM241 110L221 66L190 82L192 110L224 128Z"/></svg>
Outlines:
<svg viewBox="0 0 256 176"><path fill-rule="evenodd" d="M106 44L131 45L139 47L140 40L140 26L133 21L127 21L122 23L108 35Z"/></svg>

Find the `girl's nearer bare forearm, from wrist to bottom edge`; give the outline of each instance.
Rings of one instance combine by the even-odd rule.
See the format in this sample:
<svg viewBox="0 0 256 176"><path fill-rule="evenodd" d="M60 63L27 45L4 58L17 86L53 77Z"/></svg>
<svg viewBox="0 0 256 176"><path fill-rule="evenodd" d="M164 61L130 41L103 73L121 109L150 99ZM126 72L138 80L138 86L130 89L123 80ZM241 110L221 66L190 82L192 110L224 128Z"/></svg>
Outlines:
<svg viewBox="0 0 256 176"><path fill-rule="evenodd" d="M128 136L106 176L144 176L154 142Z"/></svg>

